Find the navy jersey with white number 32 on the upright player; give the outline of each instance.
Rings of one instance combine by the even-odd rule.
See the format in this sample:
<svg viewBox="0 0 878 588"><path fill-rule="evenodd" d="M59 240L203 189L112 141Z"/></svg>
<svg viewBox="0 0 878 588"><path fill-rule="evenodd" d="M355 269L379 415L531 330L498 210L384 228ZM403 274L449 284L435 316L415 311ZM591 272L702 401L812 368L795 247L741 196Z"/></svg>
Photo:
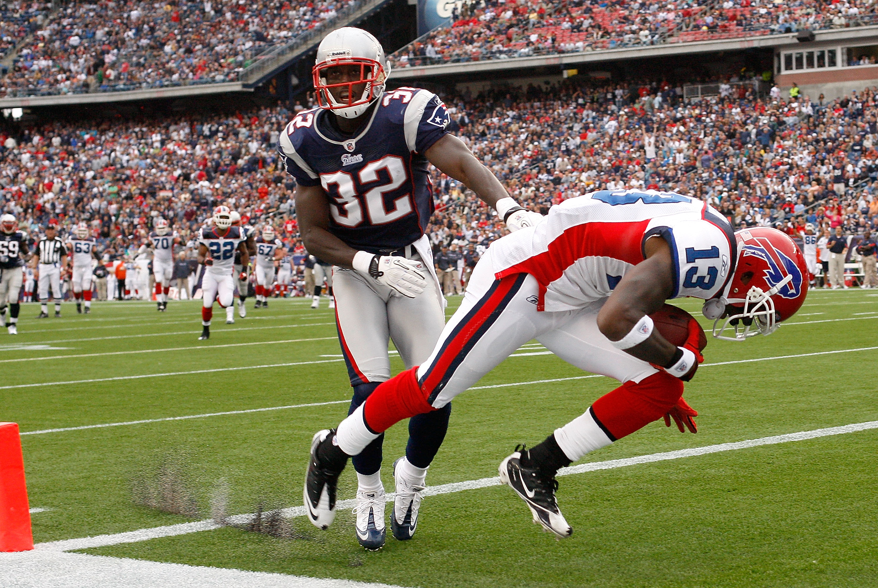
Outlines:
<svg viewBox="0 0 878 588"><path fill-rule="evenodd" d="M371 253L420 239L433 213L424 152L448 133L445 104L428 90L387 91L353 136L335 130L332 116L302 111L280 137L287 172L326 192L329 232Z"/></svg>

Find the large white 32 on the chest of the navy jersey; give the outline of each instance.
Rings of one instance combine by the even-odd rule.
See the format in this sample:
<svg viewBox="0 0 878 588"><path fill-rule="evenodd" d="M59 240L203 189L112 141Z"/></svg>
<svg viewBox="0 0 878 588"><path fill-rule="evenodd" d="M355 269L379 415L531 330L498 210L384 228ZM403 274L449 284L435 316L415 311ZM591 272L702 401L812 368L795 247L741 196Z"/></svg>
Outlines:
<svg viewBox="0 0 878 588"><path fill-rule="evenodd" d="M370 161L360 170L360 185L377 182L378 171L381 169L387 170L390 182L368 190L363 194L362 199L362 203L365 204L365 213L368 215L371 225L392 223L394 220L401 219L409 212L412 212L412 204L408 194L393 200L392 210L388 211L385 206L384 195L387 192L397 190L408 179L406 164L403 163L402 158L396 155L386 155L378 161ZM329 186L335 184L337 188L333 199L335 199L338 205L329 207L332 218L336 223L349 227L359 226L363 223L363 204L356 193L354 176L351 176L346 171L336 171L334 174L320 174L320 183L323 185L323 190L327 191L327 194L332 194Z"/></svg>

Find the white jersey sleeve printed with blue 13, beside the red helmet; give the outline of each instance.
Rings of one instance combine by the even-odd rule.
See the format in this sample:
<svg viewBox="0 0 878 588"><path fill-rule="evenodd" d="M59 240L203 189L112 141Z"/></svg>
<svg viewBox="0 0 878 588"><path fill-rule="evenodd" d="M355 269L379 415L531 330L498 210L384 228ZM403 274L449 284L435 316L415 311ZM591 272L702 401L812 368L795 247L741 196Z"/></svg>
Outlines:
<svg viewBox="0 0 878 588"><path fill-rule="evenodd" d="M725 233L704 220L686 220L671 226L658 226L671 246L673 257L673 296L671 298L713 298L729 276L730 244Z"/></svg>

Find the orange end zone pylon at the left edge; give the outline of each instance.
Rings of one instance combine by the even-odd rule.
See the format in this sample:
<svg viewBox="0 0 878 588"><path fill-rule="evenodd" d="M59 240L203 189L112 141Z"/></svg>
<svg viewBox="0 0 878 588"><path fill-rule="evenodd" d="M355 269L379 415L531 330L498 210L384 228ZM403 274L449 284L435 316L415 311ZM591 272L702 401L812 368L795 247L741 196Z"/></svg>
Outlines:
<svg viewBox="0 0 878 588"><path fill-rule="evenodd" d="M0 551L33 549L17 423L0 423Z"/></svg>

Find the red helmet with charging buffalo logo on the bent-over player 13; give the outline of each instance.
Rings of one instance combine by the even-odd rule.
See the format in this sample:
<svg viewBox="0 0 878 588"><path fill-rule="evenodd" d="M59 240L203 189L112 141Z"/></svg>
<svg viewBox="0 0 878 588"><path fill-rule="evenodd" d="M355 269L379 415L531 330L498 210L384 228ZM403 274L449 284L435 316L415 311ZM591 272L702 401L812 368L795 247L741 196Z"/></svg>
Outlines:
<svg viewBox="0 0 878 588"><path fill-rule="evenodd" d="M707 300L702 310L714 319L714 337L726 341L774 333L778 323L802 307L808 292L805 256L788 234L759 226L742 229L735 237L735 273L723 295ZM727 328L731 333L723 334Z"/></svg>

